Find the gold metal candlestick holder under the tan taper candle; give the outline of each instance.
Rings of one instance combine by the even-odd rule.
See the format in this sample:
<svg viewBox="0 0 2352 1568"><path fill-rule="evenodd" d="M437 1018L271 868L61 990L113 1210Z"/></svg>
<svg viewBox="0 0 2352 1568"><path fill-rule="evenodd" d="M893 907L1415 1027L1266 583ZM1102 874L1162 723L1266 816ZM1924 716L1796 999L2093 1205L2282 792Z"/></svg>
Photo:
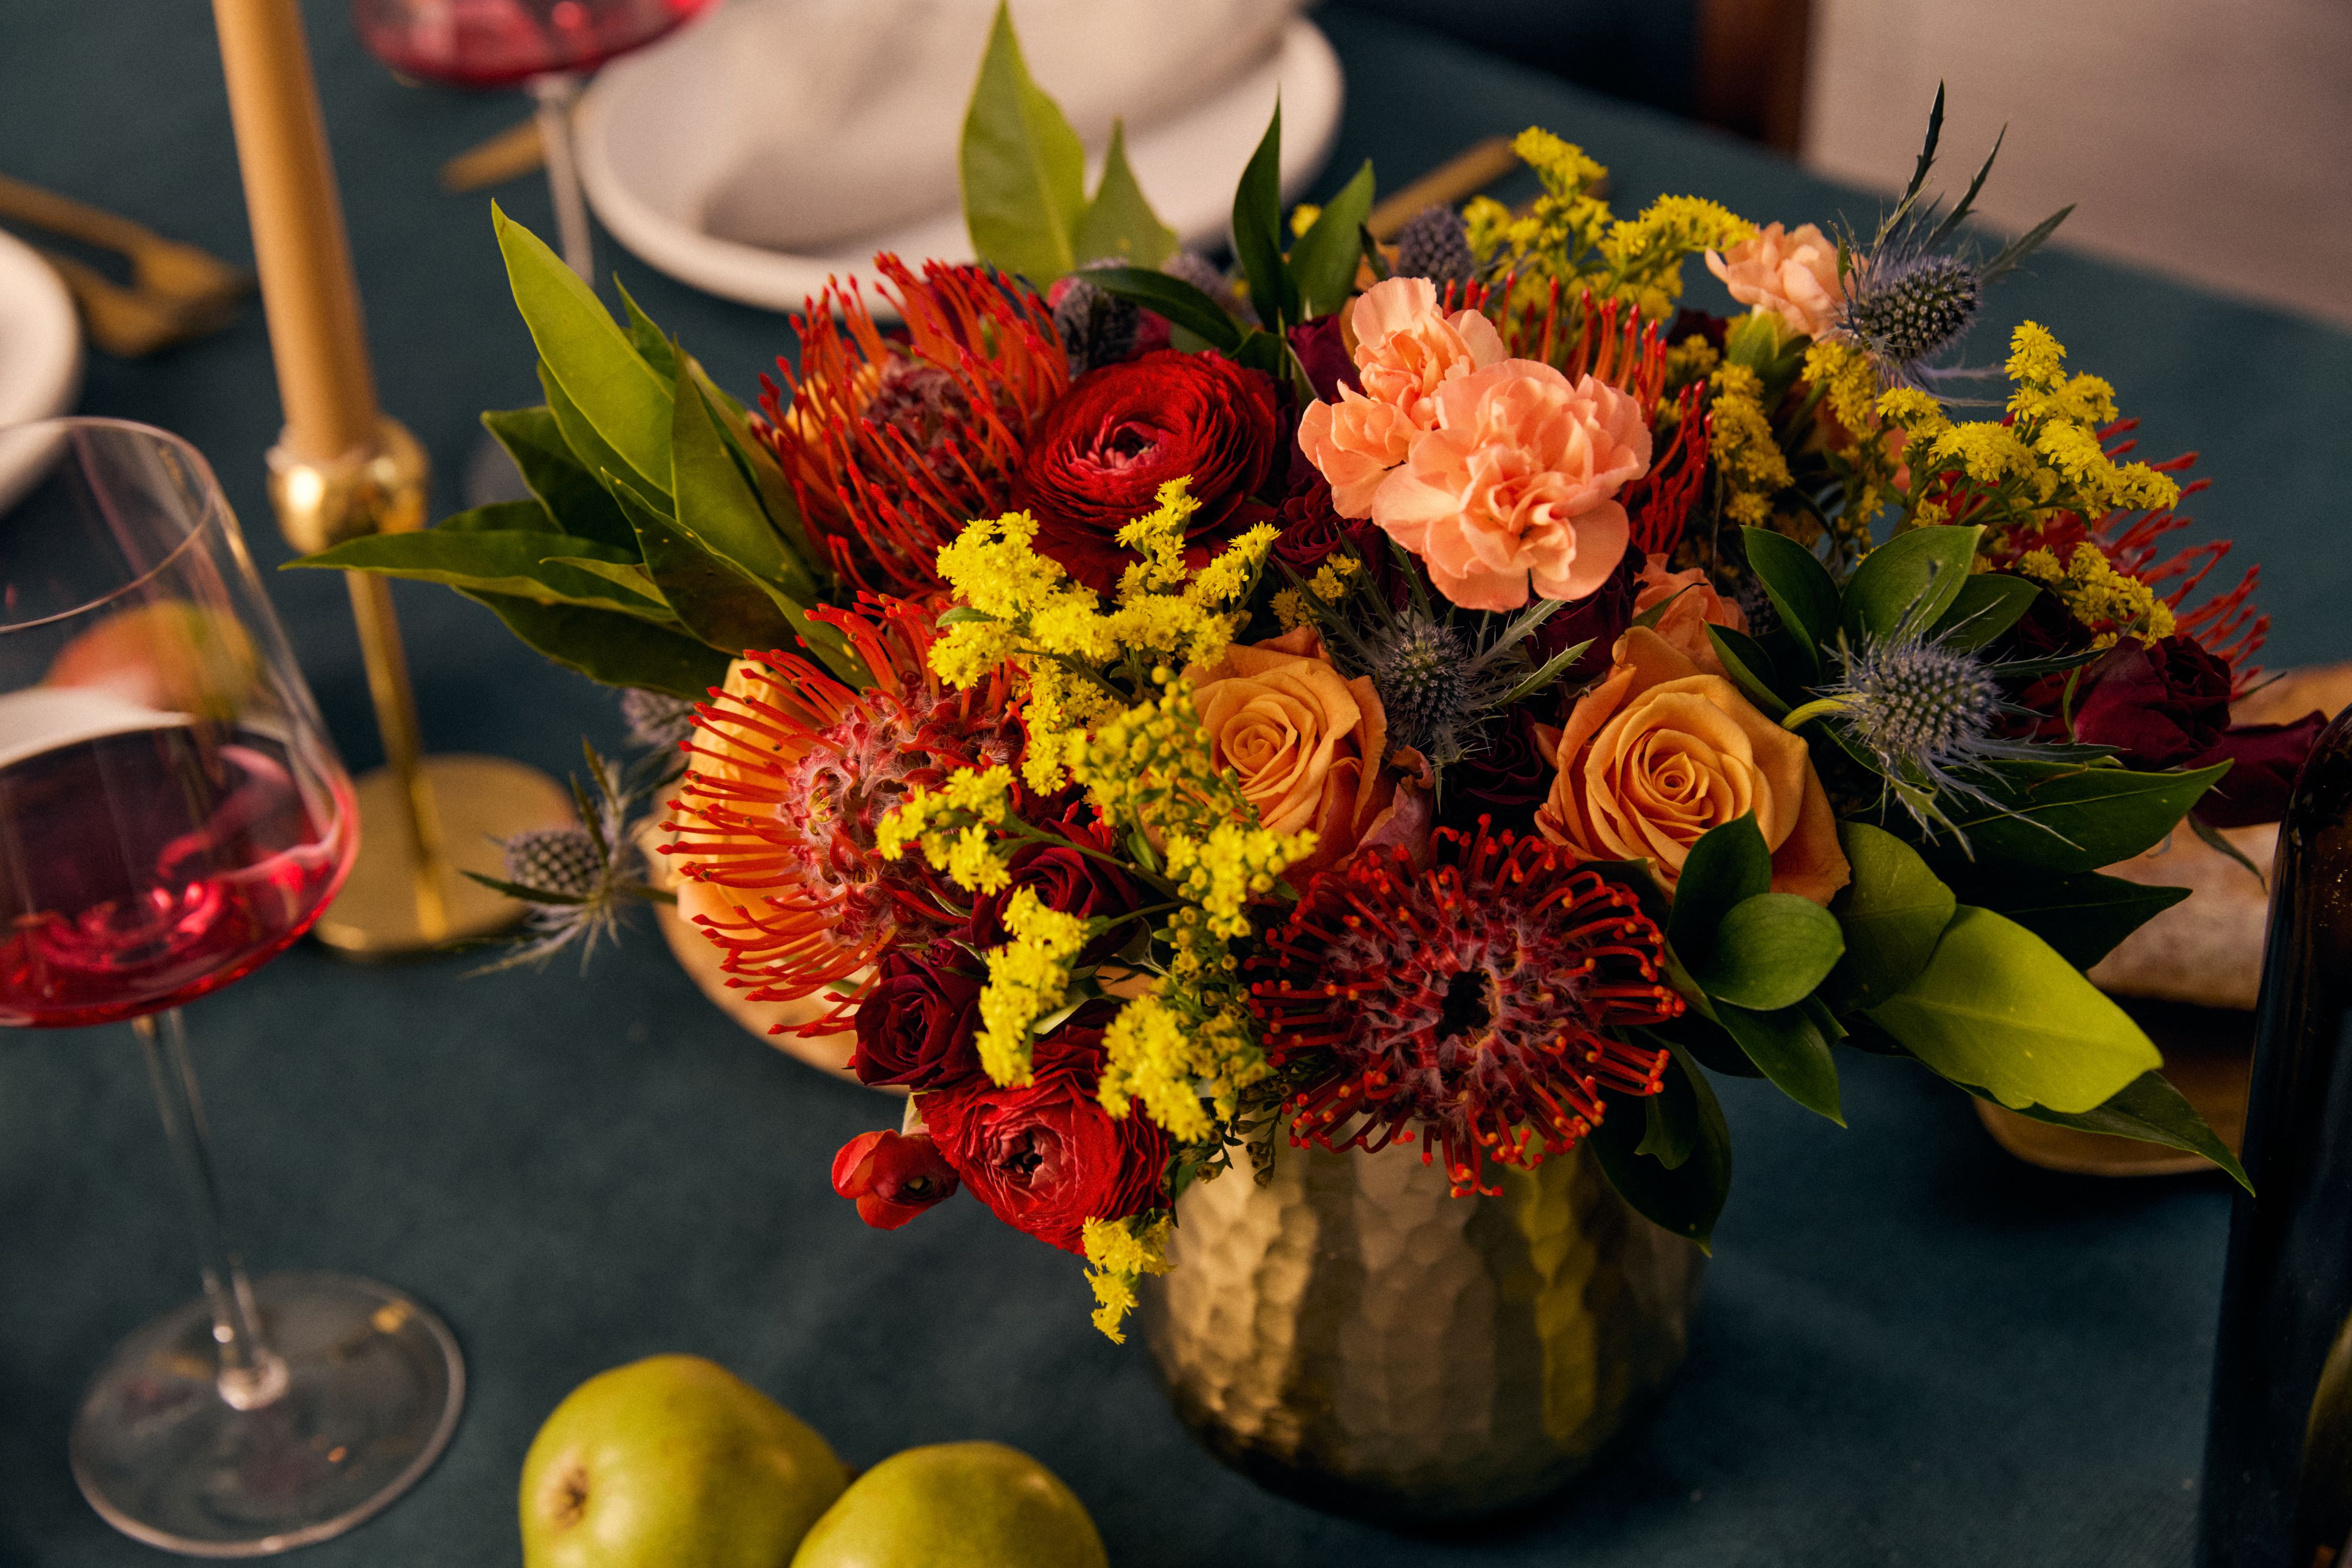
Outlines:
<svg viewBox="0 0 2352 1568"><path fill-rule="evenodd" d="M278 527L303 555L362 534L421 529L428 480L423 447L395 418L381 418L374 442L332 463L270 449ZM313 936L336 952L374 959L506 931L524 905L461 872L503 877L499 839L572 820L572 795L508 757L428 757L390 585L358 571L343 581L386 764L355 780L360 853Z"/></svg>

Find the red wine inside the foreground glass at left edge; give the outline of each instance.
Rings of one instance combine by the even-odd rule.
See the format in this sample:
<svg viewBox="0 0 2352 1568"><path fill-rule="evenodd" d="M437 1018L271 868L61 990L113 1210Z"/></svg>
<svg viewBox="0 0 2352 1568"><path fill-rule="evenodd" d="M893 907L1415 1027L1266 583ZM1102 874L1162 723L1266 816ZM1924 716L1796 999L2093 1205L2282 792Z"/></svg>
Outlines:
<svg viewBox="0 0 2352 1568"><path fill-rule="evenodd" d="M334 898L350 820L341 797L313 813L287 748L249 729L0 764L0 1025L118 1023L252 973Z"/></svg>

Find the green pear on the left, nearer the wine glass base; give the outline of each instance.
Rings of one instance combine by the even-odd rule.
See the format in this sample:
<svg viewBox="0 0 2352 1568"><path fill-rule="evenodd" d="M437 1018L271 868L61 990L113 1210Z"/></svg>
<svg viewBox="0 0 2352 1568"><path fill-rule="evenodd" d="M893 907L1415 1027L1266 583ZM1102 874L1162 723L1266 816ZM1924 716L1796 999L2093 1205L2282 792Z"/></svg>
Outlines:
<svg viewBox="0 0 2352 1568"><path fill-rule="evenodd" d="M524 1568L786 1568L849 1472L717 1361L647 1356L572 1389L522 1460Z"/></svg>

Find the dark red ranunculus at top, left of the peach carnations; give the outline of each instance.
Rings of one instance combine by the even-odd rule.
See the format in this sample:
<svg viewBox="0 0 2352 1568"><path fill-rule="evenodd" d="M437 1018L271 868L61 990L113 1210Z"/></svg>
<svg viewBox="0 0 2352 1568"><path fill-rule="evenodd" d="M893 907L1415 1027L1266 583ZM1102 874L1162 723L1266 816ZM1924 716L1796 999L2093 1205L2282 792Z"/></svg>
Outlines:
<svg viewBox="0 0 2352 1568"><path fill-rule="evenodd" d="M1150 512L1169 480L1192 480L1190 543L1209 548L1265 520L1272 508L1256 491L1279 442L1275 383L1263 371L1162 348L1070 383L1030 433L1011 501L1037 517L1044 555L1110 592L1136 559L1120 529Z"/></svg>

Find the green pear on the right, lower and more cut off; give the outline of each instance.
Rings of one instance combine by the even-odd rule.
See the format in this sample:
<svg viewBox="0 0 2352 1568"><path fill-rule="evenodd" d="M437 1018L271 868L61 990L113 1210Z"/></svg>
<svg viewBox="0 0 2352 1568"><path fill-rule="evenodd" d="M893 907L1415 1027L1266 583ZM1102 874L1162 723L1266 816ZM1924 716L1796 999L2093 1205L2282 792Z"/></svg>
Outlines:
<svg viewBox="0 0 2352 1568"><path fill-rule="evenodd" d="M1061 1479L1004 1443L882 1460L809 1526L793 1568L1108 1568Z"/></svg>

